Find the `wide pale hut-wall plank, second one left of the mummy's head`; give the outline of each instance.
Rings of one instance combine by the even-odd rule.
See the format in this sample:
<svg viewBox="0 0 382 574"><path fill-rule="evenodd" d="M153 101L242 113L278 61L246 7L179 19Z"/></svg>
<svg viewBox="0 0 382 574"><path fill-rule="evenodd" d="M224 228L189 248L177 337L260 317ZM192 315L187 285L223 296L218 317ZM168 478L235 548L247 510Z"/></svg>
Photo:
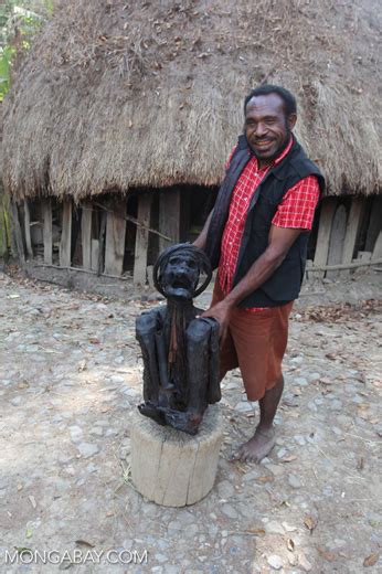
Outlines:
<svg viewBox="0 0 382 574"><path fill-rule="evenodd" d="M107 212L105 273L121 275L124 270L125 238L126 238L126 200L113 203Z"/></svg>

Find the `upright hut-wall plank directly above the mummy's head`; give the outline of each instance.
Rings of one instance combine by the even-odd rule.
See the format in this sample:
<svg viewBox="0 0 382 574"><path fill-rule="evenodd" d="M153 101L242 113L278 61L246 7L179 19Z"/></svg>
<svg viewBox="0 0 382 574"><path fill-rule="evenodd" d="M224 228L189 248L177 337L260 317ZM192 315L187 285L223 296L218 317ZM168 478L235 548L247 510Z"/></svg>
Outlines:
<svg viewBox="0 0 382 574"><path fill-rule="evenodd" d="M162 191L159 195L159 231L167 237L171 237L171 243L159 237L159 252L172 243L179 243L180 196L178 189Z"/></svg>

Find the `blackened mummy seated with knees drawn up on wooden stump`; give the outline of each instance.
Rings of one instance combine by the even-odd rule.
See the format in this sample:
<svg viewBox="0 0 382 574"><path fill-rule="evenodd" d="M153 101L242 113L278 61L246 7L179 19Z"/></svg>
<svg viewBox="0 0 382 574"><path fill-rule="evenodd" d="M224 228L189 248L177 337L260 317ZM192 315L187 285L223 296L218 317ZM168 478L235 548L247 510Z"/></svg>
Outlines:
<svg viewBox="0 0 382 574"><path fill-rule="evenodd" d="M206 278L198 287L200 274ZM211 279L204 252L188 243L167 248L153 267L156 288L167 306L144 312L136 336L144 358L142 415L191 435L198 433L208 404L221 398L219 382L219 325L197 319L192 304Z"/></svg>

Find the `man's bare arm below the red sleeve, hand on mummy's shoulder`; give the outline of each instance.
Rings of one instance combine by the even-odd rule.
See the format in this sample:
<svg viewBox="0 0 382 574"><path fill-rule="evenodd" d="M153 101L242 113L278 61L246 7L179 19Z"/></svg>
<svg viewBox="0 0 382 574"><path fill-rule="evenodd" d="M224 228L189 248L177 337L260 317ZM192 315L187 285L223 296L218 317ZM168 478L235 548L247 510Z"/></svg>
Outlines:
<svg viewBox="0 0 382 574"><path fill-rule="evenodd" d="M219 321L221 339L224 339L226 336L232 309L245 299L247 295L258 289L282 265L291 245L303 231L306 230L272 225L268 246L265 252L255 261L247 274L222 301L203 312L201 317L213 317Z"/></svg>

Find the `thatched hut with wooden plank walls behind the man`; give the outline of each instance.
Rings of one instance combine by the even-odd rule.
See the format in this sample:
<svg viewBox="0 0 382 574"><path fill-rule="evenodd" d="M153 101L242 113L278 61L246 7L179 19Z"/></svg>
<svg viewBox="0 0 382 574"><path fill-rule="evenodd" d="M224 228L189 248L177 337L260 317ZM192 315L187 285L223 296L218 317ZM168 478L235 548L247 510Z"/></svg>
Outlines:
<svg viewBox="0 0 382 574"><path fill-rule="evenodd" d="M4 106L3 182L28 257L42 247L45 265L118 276L134 265L145 281L158 248L203 223L243 97L264 82L297 96L297 136L328 179L310 257L371 253L379 18L376 0L57 2Z"/></svg>

